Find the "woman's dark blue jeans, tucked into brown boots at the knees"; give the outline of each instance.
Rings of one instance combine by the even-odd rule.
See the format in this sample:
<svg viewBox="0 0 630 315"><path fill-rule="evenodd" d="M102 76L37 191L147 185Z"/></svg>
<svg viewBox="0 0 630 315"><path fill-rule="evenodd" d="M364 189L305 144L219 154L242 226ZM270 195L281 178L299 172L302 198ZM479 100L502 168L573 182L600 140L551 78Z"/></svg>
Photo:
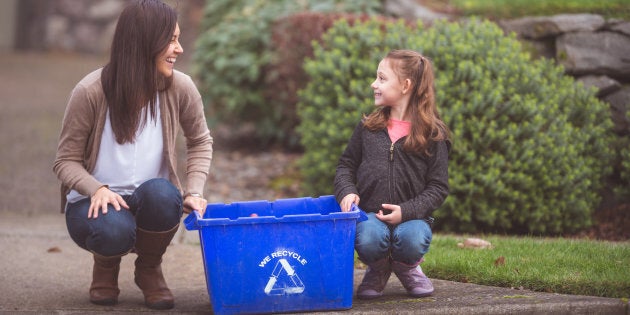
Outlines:
<svg viewBox="0 0 630 315"><path fill-rule="evenodd" d="M166 179L144 182L131 195L122 196L129 209L116 211L108 205L107 214L88 219L90 198L66 206L66 226L79 247L101 256L123 255L136 243L136 227L163 232L173 229L182 217L182 195Z"/></svg>

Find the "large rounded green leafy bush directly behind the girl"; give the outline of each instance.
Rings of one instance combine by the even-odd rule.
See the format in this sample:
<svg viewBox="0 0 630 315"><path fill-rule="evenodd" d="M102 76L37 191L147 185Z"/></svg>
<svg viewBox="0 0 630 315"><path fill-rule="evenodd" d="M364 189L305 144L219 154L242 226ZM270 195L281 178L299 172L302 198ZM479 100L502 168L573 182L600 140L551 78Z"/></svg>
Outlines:
<svg viewBox="0 0 630 315"><path fill-rule="evenodd" d="M386 51L433 60L438 110L453 132L451 193L436 228L555 234L591 224L610 173L607 106L562 68L532 60L488 21L431 28L375 20L335 24L305 63L300 161L305 189L331 193L337 160L362 113Z"/></svg>

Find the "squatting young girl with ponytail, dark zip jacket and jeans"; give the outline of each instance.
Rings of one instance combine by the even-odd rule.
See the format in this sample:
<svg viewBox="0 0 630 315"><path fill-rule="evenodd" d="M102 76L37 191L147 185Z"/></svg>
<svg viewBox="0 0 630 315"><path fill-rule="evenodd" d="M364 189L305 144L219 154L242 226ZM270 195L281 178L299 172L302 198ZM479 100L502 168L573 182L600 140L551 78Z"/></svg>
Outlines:
<svg viewBox="0 0 630 315"><path fill-rule="evenodd" d="M435 105L430 61L394 50L372 83L377 109L357 125L339 159L335 195L342 211L368 213L355 249L367 266L361 299L382 295L393 271L408 294L433 293L419 264L429 250L431 214L448 195L449 130Z"/></svg>

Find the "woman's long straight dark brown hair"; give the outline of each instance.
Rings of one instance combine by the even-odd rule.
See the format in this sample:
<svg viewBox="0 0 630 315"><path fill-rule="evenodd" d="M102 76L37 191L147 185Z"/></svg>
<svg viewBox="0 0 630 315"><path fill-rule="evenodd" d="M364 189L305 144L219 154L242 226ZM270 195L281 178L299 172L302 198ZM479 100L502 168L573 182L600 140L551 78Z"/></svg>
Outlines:
<svg viewBox="0 0 630 315"><path fill-rule="evenodd" d="M111 57L101 81L120 144L135 141L147 115L153 120L157 117L157 93L172 83L172 78L158 72L157 57L167 49L176 25L175 10L159 0L135 1L118 18ZM144 108L147 110L142 115Z"/></svg>

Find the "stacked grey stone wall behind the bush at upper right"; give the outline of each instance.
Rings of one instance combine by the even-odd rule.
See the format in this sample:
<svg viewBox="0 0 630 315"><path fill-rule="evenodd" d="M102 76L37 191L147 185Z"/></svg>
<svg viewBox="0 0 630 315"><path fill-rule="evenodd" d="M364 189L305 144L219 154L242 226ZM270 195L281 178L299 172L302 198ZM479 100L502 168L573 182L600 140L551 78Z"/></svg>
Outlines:
<svg viewBox="0 0 630 315"><path fill-rule="evenodd" d="M560 14L498 22L506 33L553 58L610 104L615 132L630 135L630 22L596 14Z"/></svg>

